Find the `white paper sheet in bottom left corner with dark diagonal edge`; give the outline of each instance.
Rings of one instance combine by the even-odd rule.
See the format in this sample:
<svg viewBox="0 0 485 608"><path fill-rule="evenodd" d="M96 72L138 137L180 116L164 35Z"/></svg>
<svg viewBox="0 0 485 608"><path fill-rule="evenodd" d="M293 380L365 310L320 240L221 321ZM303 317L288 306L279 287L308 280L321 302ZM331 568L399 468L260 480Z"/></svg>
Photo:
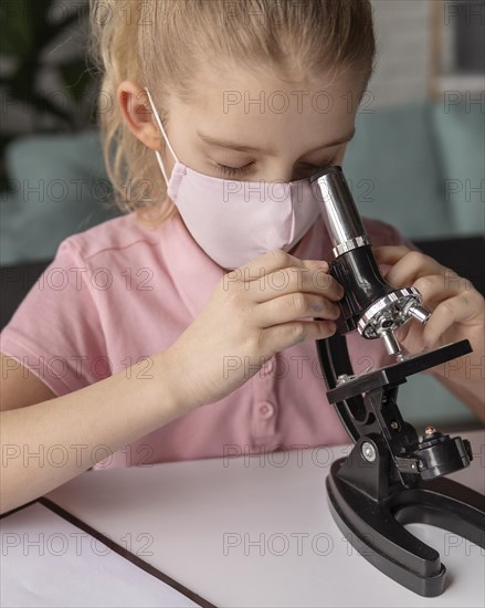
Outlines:
<svg viewBox="0 0 485 608"><path fill-rule="evenodd" d="M0 535L4 608L200 606L39 501L2 517Z"/></svg>

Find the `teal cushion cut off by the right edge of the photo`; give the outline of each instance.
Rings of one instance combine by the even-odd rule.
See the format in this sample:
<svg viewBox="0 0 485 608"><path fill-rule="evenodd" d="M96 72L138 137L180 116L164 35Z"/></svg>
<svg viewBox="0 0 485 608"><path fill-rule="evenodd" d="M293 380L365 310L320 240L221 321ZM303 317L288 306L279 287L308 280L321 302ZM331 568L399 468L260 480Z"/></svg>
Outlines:
<svg viewBox="0 0 485 608"><path fill-rule="evenodd" d="M474 96L476 97L476 95ZM440 195L451 213L456 234L476 234L484 229L485 114L482 103L433 105L433 128L440 153Z"/></svg>

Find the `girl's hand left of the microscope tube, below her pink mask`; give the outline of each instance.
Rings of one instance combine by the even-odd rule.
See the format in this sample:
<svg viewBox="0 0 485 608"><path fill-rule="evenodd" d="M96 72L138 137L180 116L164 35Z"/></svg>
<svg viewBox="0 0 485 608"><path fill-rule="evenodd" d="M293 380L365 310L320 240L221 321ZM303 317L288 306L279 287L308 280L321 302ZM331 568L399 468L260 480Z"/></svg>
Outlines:
<svg viewBox="0 0 485 608"><path fill-rule="evenodd" d="M334 334L344 289L328 270L326 262L274 250L226 273L168 349L186 399L194 408L218 401L275 353Z"/></svg>

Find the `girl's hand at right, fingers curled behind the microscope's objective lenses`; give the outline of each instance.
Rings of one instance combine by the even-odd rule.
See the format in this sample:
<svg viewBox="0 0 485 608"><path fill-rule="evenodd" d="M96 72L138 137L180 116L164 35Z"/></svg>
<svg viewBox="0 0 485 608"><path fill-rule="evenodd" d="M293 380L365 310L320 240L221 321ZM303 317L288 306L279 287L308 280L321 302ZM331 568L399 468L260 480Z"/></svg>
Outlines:
<svg viewBox="0 0 485 608"><path fill-rule="evenodd" d="M473 353L461 365L434 368L436 375L462 385L483 384L485 301L472 283L436 260L407 247L372 248L379 265L390 265L384 275L393 287L415 287L423 295L422 305L432 312L424 325L412 319L396 332L398 342L410 353L437 348L468 339ZM460 359L456 359L458 361ZM452 363L452 361L451 361ZM447 376L446 376L447 370Z"/></svg>

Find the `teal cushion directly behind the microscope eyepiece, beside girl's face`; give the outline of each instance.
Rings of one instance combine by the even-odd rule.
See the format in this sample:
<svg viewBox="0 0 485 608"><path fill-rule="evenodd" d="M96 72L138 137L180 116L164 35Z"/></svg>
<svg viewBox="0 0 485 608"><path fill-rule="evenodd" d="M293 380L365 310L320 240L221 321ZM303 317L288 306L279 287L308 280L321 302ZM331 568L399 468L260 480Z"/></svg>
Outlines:
<svg viewBox="0 0 485 608"><path fill-rule="evenodd" d="M453 234L431 115L428 102L359 112L344 163L360 213L411 240Z"/></svg>

